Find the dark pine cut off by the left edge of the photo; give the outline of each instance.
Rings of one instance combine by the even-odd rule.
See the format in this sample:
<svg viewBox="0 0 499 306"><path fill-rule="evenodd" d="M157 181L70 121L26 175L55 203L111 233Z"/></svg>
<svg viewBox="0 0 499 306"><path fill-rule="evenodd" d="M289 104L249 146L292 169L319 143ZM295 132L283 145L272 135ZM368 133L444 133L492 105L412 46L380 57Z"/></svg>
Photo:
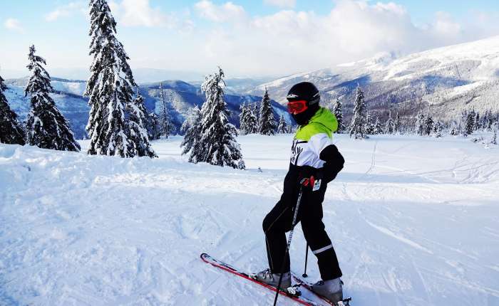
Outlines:
<svg viewBox="0 0 499 306"><path fill-rule="evenodd" d="M9 107L4 91L7 86L0 76L0 142L4 144L24 145L24 128L17 120L17 115Z"/></svg>

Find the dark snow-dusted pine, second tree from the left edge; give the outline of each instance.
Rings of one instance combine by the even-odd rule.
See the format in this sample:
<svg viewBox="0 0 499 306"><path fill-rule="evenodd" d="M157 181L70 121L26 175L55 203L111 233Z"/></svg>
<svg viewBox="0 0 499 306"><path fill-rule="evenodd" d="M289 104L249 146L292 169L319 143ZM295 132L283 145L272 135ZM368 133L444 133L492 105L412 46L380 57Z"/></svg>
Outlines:
<svg viewBox="0 0 499 306"><path fill-rule="evenodd" d="M68 120L59 112L49 93L53 92L51 78L43 65L46 61L35 55L35 46L29 48L31 77L24 95L31 98L31 110L26 117L26 143L43 149L80 151Z"/></svg>

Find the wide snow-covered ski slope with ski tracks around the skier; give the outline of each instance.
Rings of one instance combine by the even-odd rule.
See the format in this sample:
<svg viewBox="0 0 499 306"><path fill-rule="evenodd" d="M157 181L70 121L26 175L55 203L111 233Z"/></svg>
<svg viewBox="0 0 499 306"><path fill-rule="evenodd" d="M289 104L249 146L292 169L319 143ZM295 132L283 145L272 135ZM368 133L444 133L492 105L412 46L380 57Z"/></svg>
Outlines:
<svg viewBox="0 0 499 306"><path fill-rule="evenodd" d="M154 160L0 144L0 305L272 305L272 292L199 255L266 268L261 222L292 135L239 137L247 171L189 164L180 141L155 142ZM497 147L335 142L346 167L329 184L324 222L355 306L499 305ZM304 251L298 226L297 273Z"/></svg>

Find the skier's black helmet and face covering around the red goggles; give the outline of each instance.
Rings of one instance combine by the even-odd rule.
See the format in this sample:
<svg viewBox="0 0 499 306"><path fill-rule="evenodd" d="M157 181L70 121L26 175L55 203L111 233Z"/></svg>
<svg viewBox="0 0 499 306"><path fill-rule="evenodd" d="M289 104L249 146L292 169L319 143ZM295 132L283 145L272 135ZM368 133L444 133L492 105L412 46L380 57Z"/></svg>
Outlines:
<svg viewBox="0 0 499 306"><path fill-rule="evenodd" d="M289 102L300 100L307 101L307 110L296 115L292 114L294 121L296 121L298 125L306 125L310 118L312 118L317 110L319 110L321 95L314 84L310 82L302 82L293 85L287 93L286 99Z"/></svg>

